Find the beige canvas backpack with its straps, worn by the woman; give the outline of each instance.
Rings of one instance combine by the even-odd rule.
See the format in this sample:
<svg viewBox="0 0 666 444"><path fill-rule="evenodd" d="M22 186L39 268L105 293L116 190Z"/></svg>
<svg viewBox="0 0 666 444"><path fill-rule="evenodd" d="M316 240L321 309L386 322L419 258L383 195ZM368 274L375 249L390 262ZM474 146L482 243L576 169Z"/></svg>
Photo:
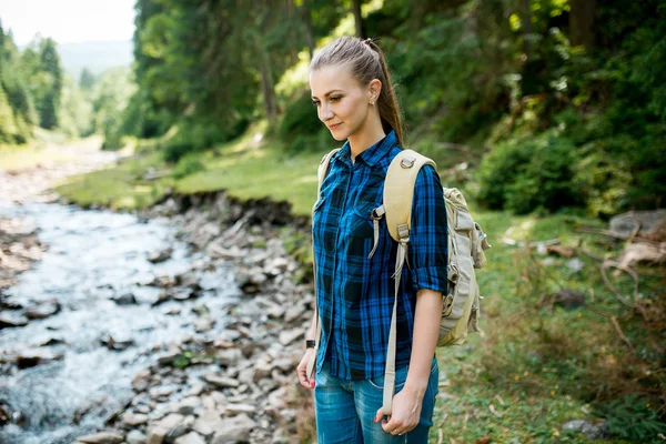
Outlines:
<svg viewBox="0 0 666 444"><path fill-rule="evenodd" d="M333 154L339 150L333 150L324 157L319 168L319 190L329 170L329 163ZM402 268L407 258L407 248L410 244L410 229L412 221L412 200L414 195L414 185L416 176L423 165L436 164L431 159L425 158L413 150L401 151L391 162L386 179L384 182L384 203L373 211L374 244L376 248L379 240L379 221L385 216L386 226L391 238L397 244L397 255L395 258L395 301L393 302L393 316L391 319L391 331L389 334L389 350L386 352L386 370L384 372L384 404L382 406L385 415L391 415L392 401L395 392L395 342L396 342L396 310L397 294L400 290L400 280ZM484 250L491 248L486 242L486 235L474 222L467 209L467 202L463 194L454 188L443 189L444 200L446 202L446 222L448 236L448 294L443 295L444 305L442 310L442 322L440 324L440 337L437 346L460 345L465 342L470 329L480 332L478 319L481 317L481 295L476 274L474 269L481 269L485 265L486 259ZM319 192L317 192L319 195ZM376 216L375 216L376 215ZM370 256L374 254L374 248ZM314 265L316 274L316 264ZM315 289L316 292L316 289ZM319 349L321 336L321 325L317 315L315 297L315 341ZM314 367L314 361L309 363L307 374L311 377Z"/></svg>

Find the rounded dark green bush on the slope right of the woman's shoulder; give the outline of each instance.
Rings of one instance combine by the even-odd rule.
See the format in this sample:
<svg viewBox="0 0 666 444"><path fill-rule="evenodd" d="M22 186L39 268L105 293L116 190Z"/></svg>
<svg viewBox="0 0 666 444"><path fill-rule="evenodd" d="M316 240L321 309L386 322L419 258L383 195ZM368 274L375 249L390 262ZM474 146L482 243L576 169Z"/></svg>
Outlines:
<svg viewBox="0 0 666 444"><path fill-rule="evenodd" d="M571 140L549 131L498 144L481 163L478 199L491 209L554 212L584 200L575 186L577 155Z"/></svg>

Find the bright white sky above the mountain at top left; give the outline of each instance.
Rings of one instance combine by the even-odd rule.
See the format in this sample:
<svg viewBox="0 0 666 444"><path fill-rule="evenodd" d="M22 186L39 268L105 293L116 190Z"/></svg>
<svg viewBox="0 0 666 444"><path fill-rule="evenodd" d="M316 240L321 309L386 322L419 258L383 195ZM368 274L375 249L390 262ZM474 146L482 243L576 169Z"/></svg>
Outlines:
<svg viewBox="0 0 666 444"><path fill-rule="evenodd" d="M130 40L135 0L0 0L0 21L14 42L29 43L36 33L58 43Z"/></svg>

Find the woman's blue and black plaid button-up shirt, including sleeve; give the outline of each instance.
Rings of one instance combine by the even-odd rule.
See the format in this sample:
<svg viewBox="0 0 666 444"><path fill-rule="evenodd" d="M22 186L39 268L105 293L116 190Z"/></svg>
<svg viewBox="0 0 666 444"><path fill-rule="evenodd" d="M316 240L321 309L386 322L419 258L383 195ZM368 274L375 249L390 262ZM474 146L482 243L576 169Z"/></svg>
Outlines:
<svg viewBox="0 0 666 444"><path fill-rule="evenodd" d="M333 155L314 208L313 244L322 337L317 369L367 380L384 374L393 312L397 243L385 218L373 248L371 211L382 204L389 164L402 148L391 131L351 160L350 142ZM395 367L410 363L416 291L446 292L446 208L435 169L421 169L414 189L408 265L402 271L397 303Z"/></svg>

